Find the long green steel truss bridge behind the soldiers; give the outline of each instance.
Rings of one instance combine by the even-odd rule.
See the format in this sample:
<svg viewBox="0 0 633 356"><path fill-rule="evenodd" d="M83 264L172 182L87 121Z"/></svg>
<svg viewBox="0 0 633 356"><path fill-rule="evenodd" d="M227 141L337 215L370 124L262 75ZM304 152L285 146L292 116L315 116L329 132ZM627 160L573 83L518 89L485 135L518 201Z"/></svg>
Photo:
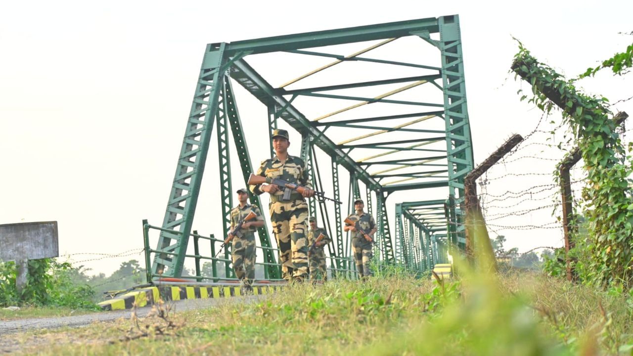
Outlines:
<svg viewBox="0 0 633 356"><path fill-rule="evenodd" d="M200 256L202 236L192 233L192 224L214 126L222 205L217 234L226 236L229 230L234 183L246 186L258 168L251 162L247 142L253 139L245 136L234 87L244 90L237 86L263 104L261 120L267 120L269 138L278 125L301 137L300 155L315 189L341 200L345 188L348 204L342 207L310 200L310 215L333 239L332 270L354 268L342 230L353 196L365 199L379 225L375 256L381 263L423 273L446 262L449 246L464 248L460 206L473 153L460 22L451 15L208 44L158 244L146 251L149 277L182 276L185 257L196 258L200 276L199 260L212 259ZM248 120L251 125L260 118ZM272 146L268 149L273 155ZM294 155L292 149L299 151L293 146ZM239 161L241 175L231 172L231 160ZM391 194L398 202L390 223L386 203ZM250 197L264 215L268 209L262 200L267 199L266 194ZM191 236L196 251L187 255ZM268 227L261 227L258 236L266 277L279 278ZM221 239L210 240L215 253Z"/></svg>

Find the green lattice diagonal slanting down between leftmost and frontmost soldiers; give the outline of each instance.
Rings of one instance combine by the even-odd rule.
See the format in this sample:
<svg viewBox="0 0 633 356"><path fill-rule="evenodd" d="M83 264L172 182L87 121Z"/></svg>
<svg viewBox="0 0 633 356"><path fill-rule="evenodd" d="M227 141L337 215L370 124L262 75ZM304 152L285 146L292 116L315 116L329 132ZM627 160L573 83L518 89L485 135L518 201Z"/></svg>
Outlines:
<svg viewBox="0 0 633 356"><path fill-rule="evenodd" d="M239 117L239 111L237 111L237 105L235 103L235 97L233 95L233 87L230 82L230 78L225 76L225 84L224 84L224 103L226 106L227 118L230 123L231 132L233 133L233 142L235 143L235 148L237 148L237 157L239 158L239 163L242 168L242 175L244 177L244 186L248 186L248 177L251 173L254 172L253 164L251 163L251 157L248 153L248 146L246 145L246 139L244 137L244 130L242 129L242 122ZM261 212L265 212L261 206L260 197L256 194L253 194L249 191L249 197L251 199L251 204L260 208ZM270 234L268 233L268 226L262 226L257 229L257 232L260 236L260 245L264 248L264 262L268 265L265 265L265 269L268 270L268 276L271 278L280 278L279 268L270 265L276 264L275 253L270 244Z"/></svg>

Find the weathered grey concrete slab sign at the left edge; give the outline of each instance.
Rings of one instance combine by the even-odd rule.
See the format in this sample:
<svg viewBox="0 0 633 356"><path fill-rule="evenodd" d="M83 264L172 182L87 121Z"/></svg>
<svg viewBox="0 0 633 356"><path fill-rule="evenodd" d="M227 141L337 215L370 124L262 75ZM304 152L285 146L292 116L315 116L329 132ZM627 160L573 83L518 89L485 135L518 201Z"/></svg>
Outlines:
<svg viewBox="0 0 633 356"><path fill-rule="evenodd" d="M59 255L56 221L0 225L0 260L38 260Z"/></svg>

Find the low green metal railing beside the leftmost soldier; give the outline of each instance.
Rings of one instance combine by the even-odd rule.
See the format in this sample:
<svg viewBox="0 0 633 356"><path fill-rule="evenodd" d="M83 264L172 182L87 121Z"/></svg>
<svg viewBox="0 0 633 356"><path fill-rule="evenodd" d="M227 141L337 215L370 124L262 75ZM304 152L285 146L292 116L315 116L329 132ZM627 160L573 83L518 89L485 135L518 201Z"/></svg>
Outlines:
<svg viewBox="0 0 633 356"><path fill-rule="evenodd" d="M163 274L161 273L153 273L152 269L151 269L151 261L152 261L152 254L156 254L156 255L167 255L167 256L177 256L178 253L176 252L172 252L172 251L166 251L166 250L155 250L153 248L150 247L149 245L149 230L150 229L154 229L160 232L167 232L169 234L174 234L174 235L179 235L182 234L182 232L180 231L175 231L175 230L170 230L170 229L164 229L163 227L158 227L158 226L152 226L150 224L147 223L147 220L143 220L143 243L144 243L144 252L145 252L145 268L146 268L146 279L147 279L147 283L151 283L151 281L154 279L154 277L163 277ZM218 281L237 281L237 278L235 277L229 277L233 275L233 269L232 269L232 260L230 259L230 254L229 254L229 249L225 248L224 249L224 256L223 257L213 257L216 255L216 243L220 243L222 244L224 241L222 239L216 239L213 234L211 234L210 236L203 236L200 234L197 234L197 231L194 231L193 233L189 233L187 234L187 240L189 240L190 238L193 238L193 242L194 242L194 254L193 255L189 255L189 254L185 254L184 257L185 258L194 258L194 263L195 263L195 269L196 269L196 276L179 276L178 278L180 279L195 279L196 282L201 282L203 280L211 280L213 282L218 282ZM211 255L212 256L203 256L200 254L200 248L199 248L199 241L200 239L209 241L210 243L210 248L211 248ZM273 251L273 253L275 253L275 251L279 251L279 249L277 248L272 248L272 247L266 247L266 246L256 246L257 250L262 250L262 251ZM201 260L209 260L211 261L211 270L212 270L212 274L213 276L202 276L201 274L201 268L200 268L200 261ZM224 268L225 268L225 276L226 277L218 277L218 266L216 265L217 262L223 262L224 264ZM272 264L269 262L255 262L256 265L263 265L264 267L272 267L273 269L277 269L279 271L279 274L281 274L281 265L279 264ZM270 268L264 268L264 279L266 279L267 281L284 281L283 279L273 279L270 277ZM167 276L165 276L167 277Z"/></svg>

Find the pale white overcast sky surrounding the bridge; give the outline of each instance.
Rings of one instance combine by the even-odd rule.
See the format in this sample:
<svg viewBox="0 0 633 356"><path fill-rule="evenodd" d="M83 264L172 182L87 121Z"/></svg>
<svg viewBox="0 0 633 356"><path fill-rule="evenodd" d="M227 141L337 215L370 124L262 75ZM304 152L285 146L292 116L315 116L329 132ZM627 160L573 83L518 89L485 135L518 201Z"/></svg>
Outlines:
<svg viewBox="0 0 633 356"><path fill-rule="evenodd" d="M540 61L572 77L624 51L633 36L618 32L633 31L632 11L633 4L617 1L532 1L516 6L484 1L320 1L309 8L296 1L4 2L0 224L58 221L60 254L72 255L66 258L92 273L109 274L125 260L142 260L141 221L160 225L163 218L207 43L458 14L473 152L479 163L511 134L527 136L541 118L539 110L517 95L518 89L529 86L508 73L517 53L512 37ZM292 72L284 67L270 70ZM630 80L604 72L579 85L613 103L633 96ZM261 135L266 130L265 108L240 88L235 91L256 164L268 154ZM631 102L613 110L633 113ZM555 124L549 124L552 121ZM539 130L548 131L559 122L560 114L551 115ZM562 139L562 129L555 135L536 132L515 158L551 161L522 158L490 170L490 184L480 186L484 210L492 215L487 219L503 217L513 204L495 203L496 195L553 182L546 174L563 153L538 143ZM299 140L295 142L291 154L293 149L299 152ZM532 142L537 144L527 147ZM194 228L218 237L222 229L214 145L212 141ZM233 186L242 186L239 170L234 172ZM504 177L509 172L542 175ZM582 171L575 174L580 177ZM341 189L346 197L346 187ZM555 193L536 190L528 192L530 197ZM388 200L392 230L393 205L404 200L402 194ZM498 227L555 222L551 209L507 219L496 219L492 229L499 231L491 231L491 236L505 235L508 247L527 251L562 245L560 229Z"/></svg>

